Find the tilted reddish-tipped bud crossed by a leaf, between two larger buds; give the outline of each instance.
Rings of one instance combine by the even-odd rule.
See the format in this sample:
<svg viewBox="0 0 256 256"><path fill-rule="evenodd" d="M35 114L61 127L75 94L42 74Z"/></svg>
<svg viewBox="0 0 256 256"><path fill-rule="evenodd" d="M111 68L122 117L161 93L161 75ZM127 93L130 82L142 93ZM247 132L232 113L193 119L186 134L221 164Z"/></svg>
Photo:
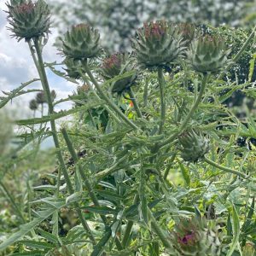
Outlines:
<svg viewBox="0 0 256 256"><path fill-rule="evenodd" d="M121 73L129 72L132 69L133 66L131 65L131 60L129 60L128 55L125 53L110 55L102 62L102 76L107 80L113 79L115 76ZM114 82L112 92L121 93L129 89L136 77L137 75L134 74Z"/></svg>

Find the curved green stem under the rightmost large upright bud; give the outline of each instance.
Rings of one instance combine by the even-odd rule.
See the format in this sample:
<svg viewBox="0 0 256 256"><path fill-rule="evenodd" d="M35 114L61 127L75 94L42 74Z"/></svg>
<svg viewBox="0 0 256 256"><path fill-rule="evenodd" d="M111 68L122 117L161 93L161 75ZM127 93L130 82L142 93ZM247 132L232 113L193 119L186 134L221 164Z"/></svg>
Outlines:
<svg viewBox="0 0 256 256"><path fill-rule="evenodd" d="M201 98L206 90L206 85L207 85L207 80L209 78L209 75L208 74L205 74L203 79L202 79L202 82L201 82L201 88L200 88L200 91L199 91L199 94L197 96L197 99L193 105L193 107L190 109L188 115L186 116L186 118L183 120L183 124L180 126L180 128L178 129L178 131L176 131L174 134L172 134L171 137L168 137L165 142L163 143L160 143L158 145L157 148L161 148L165 145L167 145L168 143L172 143L172 141L174 139L176 139L187 127L187 125L189 124L189 120L191 119L191 117L193 116L193 114L195 113L195 110L196 108L198 108L200 102L201 102Z"/></svg>

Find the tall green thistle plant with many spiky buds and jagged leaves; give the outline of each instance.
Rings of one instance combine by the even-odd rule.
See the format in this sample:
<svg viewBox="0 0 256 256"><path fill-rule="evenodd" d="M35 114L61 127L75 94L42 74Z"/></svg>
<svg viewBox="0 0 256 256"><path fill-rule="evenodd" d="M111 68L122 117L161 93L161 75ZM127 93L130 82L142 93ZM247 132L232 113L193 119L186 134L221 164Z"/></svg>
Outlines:
<svg viewBox="0 0 256 256"><path fill-rule="evenodd" d="M0 189L22 227L0 243L0 252L253 255L248 241L254 239L255 173L247 162L255 160L255 152L238 147L236 137L250 140L256 125L249 113L244 125L244 119L222 104L233 87L220 96L230 84L217 84L216 77L222 79L226 64L230 67L239 59L255 30L234 56L218 38L198 37L193 25L149 22L133 38L131 55L106 56L99 32L79 24L61 37L62 73L55 68L59 63L44 63L47 4L13 0L8 6L10 25L18 40L25 38L42 88L24 90L38 81L33 79L3 92L0 108L15 97L35 93L30 108L35 111L41 104L48 113L15 120L22 127L15 137L20 143L0 164ZM24 25L27 20L33 28ZM73 82L75 93L56 98L60 94L51 89L45 67ZM250 85L234 88L253 96ZM124 96L121 104L114 93ZM55 108L67 101L74 102L72 108ZM71 118L56 125L56 119L67 116ZM49 172L44 183L40 178L28 183L30 193L20 200L20 194L9 192L4 175L19 166L16 163L30 169L22 164L35 155L30 154L32 143L48 137L55 144L55 167L45 168ZM202 213L191 218L194 207ZM75 212L73 227L66 229L61 209Z"/></svg>

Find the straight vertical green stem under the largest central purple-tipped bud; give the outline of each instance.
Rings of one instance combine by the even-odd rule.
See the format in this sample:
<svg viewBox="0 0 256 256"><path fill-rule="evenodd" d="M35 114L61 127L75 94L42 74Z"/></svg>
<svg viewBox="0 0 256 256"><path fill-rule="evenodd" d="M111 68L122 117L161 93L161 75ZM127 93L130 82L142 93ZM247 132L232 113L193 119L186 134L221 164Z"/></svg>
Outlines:
<svg viewBox="0 0 256 256"><path fill-rule="evenodd" d="M164 129L164 125L166 122L166 101L165 101L165 78L163 75L163 68L158 67L158 82L160 88L160 102L161 102L161 113L160 113L160 127L158 133L161 134Z"/></svg>

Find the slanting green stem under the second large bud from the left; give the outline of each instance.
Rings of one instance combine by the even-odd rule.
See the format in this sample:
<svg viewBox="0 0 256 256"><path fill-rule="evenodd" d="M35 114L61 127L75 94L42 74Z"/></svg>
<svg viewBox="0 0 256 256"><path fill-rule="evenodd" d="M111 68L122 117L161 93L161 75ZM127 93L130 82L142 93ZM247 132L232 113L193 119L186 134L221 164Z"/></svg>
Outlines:
<svg viewBox="0 0 256 256"><path fill-rule="evenodd" d="M108 96L105 95L101 85L98 84L98 82L90 72L90 68L88 67L87 63L84 63L84 69L88 74L91 82L95 85L96 90L99 92L100 96L102 96L102 99L108 103L108 106L112 108L116 113L118 113L119 117L123 119L127 125L130 125L133 129L137 130L138 129L137 125L133 124L133 122L125 116L125 114L119 109L119 107L116 104L114 104L114 102L112 102Z"/></svg>

